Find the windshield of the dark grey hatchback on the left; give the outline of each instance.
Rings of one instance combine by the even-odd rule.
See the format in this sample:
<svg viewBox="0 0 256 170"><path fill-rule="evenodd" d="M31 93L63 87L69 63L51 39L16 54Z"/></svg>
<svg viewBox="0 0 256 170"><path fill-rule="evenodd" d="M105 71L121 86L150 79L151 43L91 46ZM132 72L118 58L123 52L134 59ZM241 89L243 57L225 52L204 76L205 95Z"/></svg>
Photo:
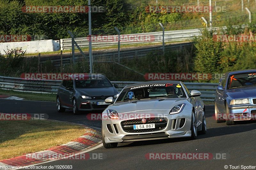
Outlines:
<svg viewBox="0 0 256 170"><path fill-rule="evenodd" d="M102 88L112 87L112 84L104 78L103 80L76 80L76 88Z"/></svg>

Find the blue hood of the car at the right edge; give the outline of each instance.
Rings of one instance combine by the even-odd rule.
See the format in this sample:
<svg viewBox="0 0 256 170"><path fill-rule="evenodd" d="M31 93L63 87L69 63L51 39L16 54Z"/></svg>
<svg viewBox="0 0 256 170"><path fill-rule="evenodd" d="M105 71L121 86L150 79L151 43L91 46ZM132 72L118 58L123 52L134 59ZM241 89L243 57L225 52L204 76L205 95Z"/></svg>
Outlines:
<svg viewBox="0 0 256 170"><path fill-rule="evenodd" d="M230 89L226 94L232 99L256 98L256 86Z"/></svg>

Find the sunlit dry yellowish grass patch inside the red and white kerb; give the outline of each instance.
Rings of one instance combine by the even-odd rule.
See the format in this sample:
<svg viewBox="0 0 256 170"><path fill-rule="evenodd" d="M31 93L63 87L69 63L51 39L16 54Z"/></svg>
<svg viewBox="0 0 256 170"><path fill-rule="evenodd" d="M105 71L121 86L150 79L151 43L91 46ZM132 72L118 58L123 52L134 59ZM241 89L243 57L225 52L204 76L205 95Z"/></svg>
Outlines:
<svg viewBox="0 0 256 170"><path fill-rule="evenodd" d="M80 125L52 120L2 120L0 129L0 160L65 144L85 131Z"/></svg>

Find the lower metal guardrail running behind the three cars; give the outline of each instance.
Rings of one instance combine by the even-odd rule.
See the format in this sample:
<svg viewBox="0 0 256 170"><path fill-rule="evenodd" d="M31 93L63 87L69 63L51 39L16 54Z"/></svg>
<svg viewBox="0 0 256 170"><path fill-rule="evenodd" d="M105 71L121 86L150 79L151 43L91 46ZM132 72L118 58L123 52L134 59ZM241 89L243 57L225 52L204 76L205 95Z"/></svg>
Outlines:
<svg viewBox="0 0 256 170"><path fill-rule="evenodd" d="M56 93L60 86L61 80L23 80L21 78L3 77L0 76L0 89L14 90L19 92L34 92L34 93ZM139 82L131 81L111 81L117 84L118 91L121 91L126 85L131 85ZM200 96L204 101L214 101L215 90L217 83L184 83L189 90L199 90Z"/></svg>

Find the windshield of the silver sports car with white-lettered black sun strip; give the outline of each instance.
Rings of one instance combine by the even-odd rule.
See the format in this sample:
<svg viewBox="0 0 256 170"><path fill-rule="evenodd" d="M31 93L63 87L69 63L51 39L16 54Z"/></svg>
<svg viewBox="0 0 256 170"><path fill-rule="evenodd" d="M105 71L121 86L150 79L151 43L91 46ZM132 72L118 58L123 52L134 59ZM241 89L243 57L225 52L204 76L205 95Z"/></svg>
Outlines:
<svg viewBox="0 0 256 170"><path fill-rule="evenodd" d="M125 88L116 102L187 97L180 84L151 84Z"/></svg>

